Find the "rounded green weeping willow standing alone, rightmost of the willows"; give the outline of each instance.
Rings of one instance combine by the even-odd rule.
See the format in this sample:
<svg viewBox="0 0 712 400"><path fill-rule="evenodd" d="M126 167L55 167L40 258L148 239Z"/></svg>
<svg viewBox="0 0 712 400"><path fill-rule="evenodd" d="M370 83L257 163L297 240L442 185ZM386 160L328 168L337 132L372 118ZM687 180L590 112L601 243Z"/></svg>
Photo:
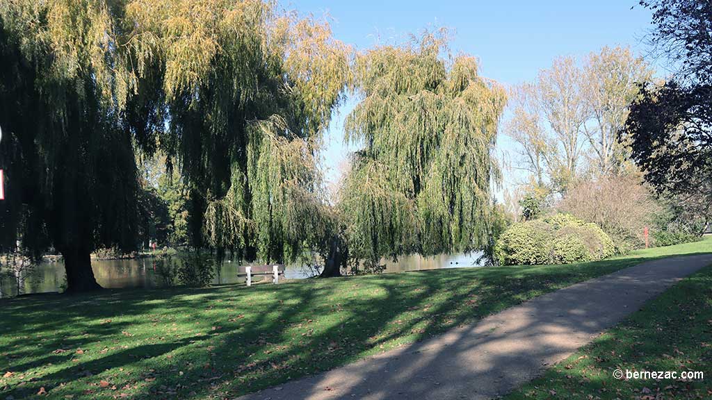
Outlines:
<svg viewBox="0 0 712 400"><path fill-rule="evenodd" d="M486 246L506 95L478 75L475 58L447 53L440 31L357 56L362 100L345 135L362 149L338 206L352 262Z"/></svg>

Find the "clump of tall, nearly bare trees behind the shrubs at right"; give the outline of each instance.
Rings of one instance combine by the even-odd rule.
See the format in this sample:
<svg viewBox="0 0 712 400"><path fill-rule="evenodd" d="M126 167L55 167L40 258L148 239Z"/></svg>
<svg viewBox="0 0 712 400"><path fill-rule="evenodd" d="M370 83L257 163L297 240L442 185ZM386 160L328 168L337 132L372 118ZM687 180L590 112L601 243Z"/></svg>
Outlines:
<svg viewBox="0 0 712 400"><path fill-rule="evenodd" d="M537 186L559 194L585 172L600 177L634 170L617 132L638 95L636 83L652 74L629 48L604 47L583 65L572 57L557 58L535 82L512 88L504 131L519 144L520 169Z"/></svg>

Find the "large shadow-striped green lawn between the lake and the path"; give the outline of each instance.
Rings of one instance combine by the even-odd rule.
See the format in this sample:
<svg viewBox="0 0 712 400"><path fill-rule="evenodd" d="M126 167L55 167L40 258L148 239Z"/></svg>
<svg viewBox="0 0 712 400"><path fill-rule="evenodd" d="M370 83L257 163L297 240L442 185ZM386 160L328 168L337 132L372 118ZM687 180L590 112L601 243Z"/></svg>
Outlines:
<svg viewBox="0 0 712 400"><path fill-rule="evenodd" d="M0 300L0 399L237 396L689 253L712 253L712 238L574 265Z"/></svg>

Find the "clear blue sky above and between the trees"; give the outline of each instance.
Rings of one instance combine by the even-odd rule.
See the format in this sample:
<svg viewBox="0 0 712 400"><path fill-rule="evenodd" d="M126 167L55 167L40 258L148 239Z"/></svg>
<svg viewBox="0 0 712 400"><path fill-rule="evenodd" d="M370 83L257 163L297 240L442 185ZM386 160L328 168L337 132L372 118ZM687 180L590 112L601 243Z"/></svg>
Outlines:
<svg viewBox="0 0 712 400"><path fill-rule="evenodd" d="M481 74L509 85L532 80L557 56L585 56L602 46L630 46L646 54L643 38L651 13L637 0L543 1L323 1L283 0L300 14L328 16L335 38L358 50L375 43L405 40L409 33L445 26L453 33L451 49L480 59ZM632 8L632 9L631 9ZM326 135L324 167L329 181L339 176L348 149L342 120L348 101ZM501 151L513 144L503 135ZM505 172L506 174L507 172ZM505 184L513 181L506 179Z"/></svg>

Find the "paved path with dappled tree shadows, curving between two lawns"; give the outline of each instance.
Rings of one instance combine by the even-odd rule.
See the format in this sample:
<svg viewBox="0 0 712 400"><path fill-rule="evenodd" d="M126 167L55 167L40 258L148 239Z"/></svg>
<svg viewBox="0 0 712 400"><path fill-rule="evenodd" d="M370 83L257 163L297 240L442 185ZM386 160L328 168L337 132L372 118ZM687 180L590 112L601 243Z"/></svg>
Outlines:
<svg viewBox="0 0 712 400"><path fill-rule="evenodd" d="M642 263L445 335L240 399L490 399L538 376L710 263L712 255Z"/></svg>

